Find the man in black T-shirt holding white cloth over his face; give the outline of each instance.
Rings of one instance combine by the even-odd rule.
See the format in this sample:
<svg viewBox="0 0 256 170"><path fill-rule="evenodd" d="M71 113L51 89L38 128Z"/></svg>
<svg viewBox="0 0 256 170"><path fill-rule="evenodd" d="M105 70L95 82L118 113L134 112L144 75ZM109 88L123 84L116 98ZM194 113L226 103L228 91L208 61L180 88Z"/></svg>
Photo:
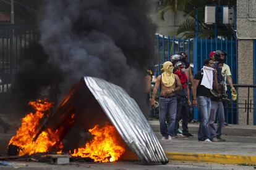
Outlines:
<svg viewBox="0 0 256 170"><path fill-rule="evenodd" d="M213 59L203 63L202 70L195 75L193 82L193 105L197 105L200 113L198 141L211 142L208 134L208 120L211 110L211 89L218 88L217 71L213 68Z"/></svg>

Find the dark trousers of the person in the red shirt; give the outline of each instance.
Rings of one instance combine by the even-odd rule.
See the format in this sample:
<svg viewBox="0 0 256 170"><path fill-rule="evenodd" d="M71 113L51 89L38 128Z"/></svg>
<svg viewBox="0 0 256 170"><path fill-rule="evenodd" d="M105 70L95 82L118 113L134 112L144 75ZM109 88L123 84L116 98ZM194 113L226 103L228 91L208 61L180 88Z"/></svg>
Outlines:
<svg viewBox="0 0 256 170"><path fill-rule="evenodd" d="M182 119L182 132L184 134L189 132L187 124L189 123L189 103L186 97L177 97L177 115L175 121L175 133L179 129L179 121Z"/></svg>

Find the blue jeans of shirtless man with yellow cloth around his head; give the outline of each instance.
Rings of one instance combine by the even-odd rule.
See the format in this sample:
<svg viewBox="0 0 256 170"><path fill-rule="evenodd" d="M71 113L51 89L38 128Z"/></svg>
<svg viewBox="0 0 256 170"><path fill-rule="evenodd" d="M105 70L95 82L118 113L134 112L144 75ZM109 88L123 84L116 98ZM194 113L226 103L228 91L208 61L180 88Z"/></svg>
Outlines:
<svg viewBox="0 0 256 170"><path fill-rule="evenodd" d="M162 136L174 136L175 135L175 119L177 111L177 99L171 97L170 99L160 97L159 98L159 121L160 132ZM168 126L166 124L166 118L168 118Z"/></svg>

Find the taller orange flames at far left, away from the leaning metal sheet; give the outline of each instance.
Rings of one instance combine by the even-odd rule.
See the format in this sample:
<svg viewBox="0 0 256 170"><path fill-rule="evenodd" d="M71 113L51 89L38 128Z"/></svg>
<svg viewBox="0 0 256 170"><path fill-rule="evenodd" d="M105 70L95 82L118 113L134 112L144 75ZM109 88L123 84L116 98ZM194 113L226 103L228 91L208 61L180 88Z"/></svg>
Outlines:
<svg viewBox="0 0 256 170"><path fill-rule="evenodd" d="M29 102L29 105L35 109L35 113L29 113L22 118L22 125L16 136L10 140L9 145L20 148L19 156L48 152L49 148L54 145L61 149L63 146L59 142L58 129L53 132L48 128L42 131L35 141L33 140L40 129L40 119L43 118L44 113L53 107L53 103L48 102L47 99L38 99L36 102Z"/></svg>

